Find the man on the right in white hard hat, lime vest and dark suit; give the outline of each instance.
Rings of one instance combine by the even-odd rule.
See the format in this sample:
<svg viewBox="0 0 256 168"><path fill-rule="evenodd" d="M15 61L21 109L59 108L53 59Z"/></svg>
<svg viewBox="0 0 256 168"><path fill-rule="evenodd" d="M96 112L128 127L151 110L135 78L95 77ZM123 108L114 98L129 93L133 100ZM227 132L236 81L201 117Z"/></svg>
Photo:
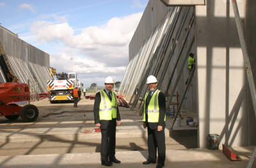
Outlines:
<svg viewBox="0 0 256 168"><path fill-rule="evenodd" d="M143 127L148 129L148 158L143 164L156 163L156 151L158 160L156 168L164 167L165 161L165 96L157 89L155 76L148 76L147 85L150 90L145 94Z"/></svg>

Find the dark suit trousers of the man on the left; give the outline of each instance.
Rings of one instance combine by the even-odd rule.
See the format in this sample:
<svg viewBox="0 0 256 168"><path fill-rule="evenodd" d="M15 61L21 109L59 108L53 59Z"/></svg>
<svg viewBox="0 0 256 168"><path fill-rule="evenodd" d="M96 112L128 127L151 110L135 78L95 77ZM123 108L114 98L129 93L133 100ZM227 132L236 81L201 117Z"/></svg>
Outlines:
<svg viewBox="0 0 256 168"><path fill-rule="evenodd" d="M101 130L101 162L107 162L111 157L115 157L116 150L116 119L108 122L108 127Z"/></svg>

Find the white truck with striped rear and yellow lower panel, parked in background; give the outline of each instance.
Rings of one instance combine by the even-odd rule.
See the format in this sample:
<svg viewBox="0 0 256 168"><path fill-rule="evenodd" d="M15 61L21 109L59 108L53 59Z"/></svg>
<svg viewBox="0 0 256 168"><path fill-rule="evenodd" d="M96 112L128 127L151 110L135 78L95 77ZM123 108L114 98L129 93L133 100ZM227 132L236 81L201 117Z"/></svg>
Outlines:
<svg viewBox="0 0 256 168"><path fill-rule="evenodd" d="M83 83L77 79L77 73L56 73L54 80L48 80L47 86L49 90L49 101L74 101L73 90L75 87L81 95ZM79 97L80 99L80 97Z"/></svg>

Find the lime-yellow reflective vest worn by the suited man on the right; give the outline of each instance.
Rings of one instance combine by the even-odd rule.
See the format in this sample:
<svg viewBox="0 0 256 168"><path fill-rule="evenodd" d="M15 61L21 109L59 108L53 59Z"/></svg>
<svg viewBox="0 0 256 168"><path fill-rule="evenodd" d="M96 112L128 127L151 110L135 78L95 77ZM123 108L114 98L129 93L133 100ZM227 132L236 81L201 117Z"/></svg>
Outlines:
<svg viewBox="0 0 256 168"><path fill-rule="evenodd" d="M158 95L160 90L156 90L154 94L152 95L150 102L148 104L148 122L151 123L157 123L159 122L159 104L158 104ZM147 101L148 94L150 93L147 92L145 95L145 101ZM166 120L166 116L164 117L164 121ZM144 103L144 117L143 117L143 122L146 122L146 102Z"/></svg>

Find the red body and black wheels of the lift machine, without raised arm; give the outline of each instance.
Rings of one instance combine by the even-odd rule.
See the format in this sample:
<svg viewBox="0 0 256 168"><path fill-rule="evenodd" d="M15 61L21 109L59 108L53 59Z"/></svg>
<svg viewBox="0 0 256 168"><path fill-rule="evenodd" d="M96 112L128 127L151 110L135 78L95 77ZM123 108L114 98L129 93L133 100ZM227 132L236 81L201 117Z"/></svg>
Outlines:
<svg viewBox="0 0 256 168"><path fill-rule="evenodd" d="M26 83L0 84L0 116L5 116L9 120L16 120L20 116L24 122L34 122L38 117L38 108L33 104L17 105L29 100L30 92Z"/></svg>

